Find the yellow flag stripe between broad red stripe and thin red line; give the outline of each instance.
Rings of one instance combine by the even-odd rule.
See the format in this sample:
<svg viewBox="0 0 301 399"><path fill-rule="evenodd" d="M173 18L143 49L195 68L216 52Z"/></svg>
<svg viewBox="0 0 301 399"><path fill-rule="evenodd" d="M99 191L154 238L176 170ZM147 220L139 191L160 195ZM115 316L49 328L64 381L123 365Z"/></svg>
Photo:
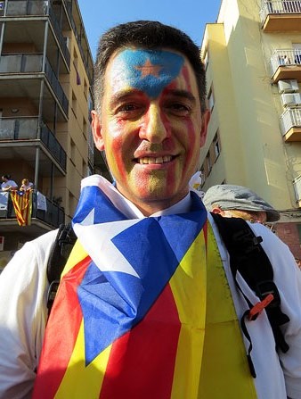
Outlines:
<svg viewBox="0 0 301 399"><path fill-rule="evenodd" d="M206 244L202 230L170 280L182 323L171 399L198 397L205 334L206 281Z"/></svg>

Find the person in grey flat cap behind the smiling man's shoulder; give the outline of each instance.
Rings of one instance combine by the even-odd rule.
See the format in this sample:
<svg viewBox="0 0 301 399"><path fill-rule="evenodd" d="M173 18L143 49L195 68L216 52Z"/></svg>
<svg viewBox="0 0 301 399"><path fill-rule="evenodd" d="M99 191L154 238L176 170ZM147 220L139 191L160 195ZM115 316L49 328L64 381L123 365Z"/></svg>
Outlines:
<svg viewBox="0 0 301 399"><path fill-rule="evenodd" d="M262 224L280 219L280 213L248 187L231 184L210 187L203 203L207 211L225 218L242 218Z"/></svg>

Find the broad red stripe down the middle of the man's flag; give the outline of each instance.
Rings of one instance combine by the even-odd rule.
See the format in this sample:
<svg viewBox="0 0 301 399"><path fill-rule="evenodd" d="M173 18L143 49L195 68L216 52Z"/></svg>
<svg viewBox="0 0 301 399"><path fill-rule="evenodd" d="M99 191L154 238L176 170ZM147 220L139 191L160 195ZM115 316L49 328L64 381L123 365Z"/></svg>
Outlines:
<svg viewBox="0 0 301 399"><path fill-rule="evenodd" d="M169 285L144 319L113 345L101 399L169 399L181 324Z"/></svg>

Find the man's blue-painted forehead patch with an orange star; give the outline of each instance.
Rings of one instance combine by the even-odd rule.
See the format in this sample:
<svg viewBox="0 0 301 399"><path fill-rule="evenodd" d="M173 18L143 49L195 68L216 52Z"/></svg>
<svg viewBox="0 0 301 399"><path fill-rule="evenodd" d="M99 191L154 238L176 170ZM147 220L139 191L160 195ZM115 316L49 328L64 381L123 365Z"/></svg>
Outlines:
<svg viewBox="0 0 301 399"><path fill-rule="evenodd" d="M156 98L183 67L183 55L163 50L126 49L113 61L112 71L126 86Z"/></svg>

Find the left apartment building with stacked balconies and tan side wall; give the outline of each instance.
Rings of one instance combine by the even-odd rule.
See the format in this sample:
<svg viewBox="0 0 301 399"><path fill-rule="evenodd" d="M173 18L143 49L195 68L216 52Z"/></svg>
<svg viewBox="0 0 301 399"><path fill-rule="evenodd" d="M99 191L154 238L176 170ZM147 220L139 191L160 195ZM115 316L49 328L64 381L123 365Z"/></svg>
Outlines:
<svg viewBox="0 0 301 399"><path fill-rule="evenodd" d="M35 185L30 226L0 204L0 268L75 211L94 168L92 84L77 0L0 1L0 173Z"/></svg>

